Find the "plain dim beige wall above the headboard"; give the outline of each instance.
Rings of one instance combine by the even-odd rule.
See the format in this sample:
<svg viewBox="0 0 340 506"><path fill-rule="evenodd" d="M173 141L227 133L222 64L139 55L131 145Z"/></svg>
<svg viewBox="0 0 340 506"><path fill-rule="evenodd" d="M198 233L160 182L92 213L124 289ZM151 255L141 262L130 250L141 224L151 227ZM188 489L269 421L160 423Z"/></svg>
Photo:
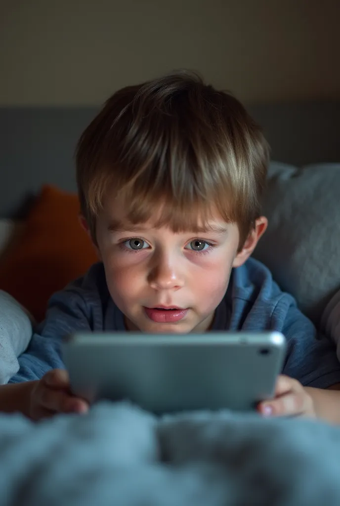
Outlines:
<svg viewBox="0 0 340 506"><path fill-rule="evenodd" d="M0 105L98 104L180 67L247 102L340 98L340 0L0 2Z"/></svg>

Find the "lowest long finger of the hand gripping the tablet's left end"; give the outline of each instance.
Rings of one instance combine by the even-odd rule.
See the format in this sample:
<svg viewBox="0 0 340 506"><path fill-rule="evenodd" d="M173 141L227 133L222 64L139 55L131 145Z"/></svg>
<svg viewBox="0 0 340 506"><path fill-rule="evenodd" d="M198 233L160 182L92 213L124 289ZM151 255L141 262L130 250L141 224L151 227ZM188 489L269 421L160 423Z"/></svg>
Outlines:
<svg viewBox="0 0 340 506"><path fill-rule="evenodd" d="M37 403L44 409L57 413L84 413L89 405L83 399L73 397L63 390L41 387L37 393Z"/></svg>

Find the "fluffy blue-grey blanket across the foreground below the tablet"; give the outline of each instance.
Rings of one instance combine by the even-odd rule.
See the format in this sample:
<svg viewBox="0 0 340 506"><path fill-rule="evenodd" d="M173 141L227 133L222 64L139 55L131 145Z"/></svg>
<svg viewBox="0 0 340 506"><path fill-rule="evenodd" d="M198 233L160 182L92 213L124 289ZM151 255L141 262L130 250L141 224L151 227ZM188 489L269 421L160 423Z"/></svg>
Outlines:
<svg viewBox="0 0 340 506"><path fill-rule="evenodd" d="M340 429L129 404L0 416L1 506L338 506Z"/></svg>

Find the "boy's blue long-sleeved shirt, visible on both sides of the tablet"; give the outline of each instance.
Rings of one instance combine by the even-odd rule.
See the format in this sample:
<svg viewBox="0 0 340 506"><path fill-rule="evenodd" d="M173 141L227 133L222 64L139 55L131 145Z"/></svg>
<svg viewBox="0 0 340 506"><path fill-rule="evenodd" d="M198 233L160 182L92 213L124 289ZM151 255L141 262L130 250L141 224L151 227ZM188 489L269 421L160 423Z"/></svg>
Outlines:
<svg viewBox="0 0 340 506"><path fill-rule="evenodd" d="M33 335L27 353L19 358L13 383L37 379L51 368L64 367L62 337L75 331L124 331L123 315L109 296L103 264L53 296L47 319ZM283 373L303 385L327 388L340 383L340 363L334 346L317 339L316 329L294 299L273 282L269 270L249 259L234 269L213 330L281 331L287 339Z"/></svg>

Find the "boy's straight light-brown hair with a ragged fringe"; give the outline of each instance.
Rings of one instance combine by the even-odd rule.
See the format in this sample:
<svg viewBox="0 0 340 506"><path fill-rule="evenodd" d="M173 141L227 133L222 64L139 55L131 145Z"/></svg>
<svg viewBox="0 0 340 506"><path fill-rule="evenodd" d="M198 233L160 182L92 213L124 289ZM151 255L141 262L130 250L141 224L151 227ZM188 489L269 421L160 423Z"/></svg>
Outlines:
<svg viewBox="0 0 340 506"><path fill-rule="evenodd" d="M182 71L123 88L81 135L76 172L81 212L95 238L110 189L133 224L195 230L212 213L235 222L243 245L260 215L269 149L231 94Z"/></svg>

